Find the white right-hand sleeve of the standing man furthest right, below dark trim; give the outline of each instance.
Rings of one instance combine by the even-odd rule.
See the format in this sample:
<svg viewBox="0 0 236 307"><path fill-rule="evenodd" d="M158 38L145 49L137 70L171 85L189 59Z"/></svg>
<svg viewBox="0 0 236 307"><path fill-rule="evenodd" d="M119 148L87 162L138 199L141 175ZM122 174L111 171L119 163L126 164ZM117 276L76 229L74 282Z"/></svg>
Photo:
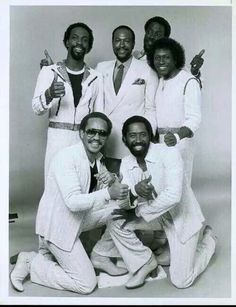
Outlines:
<svg viewBox="0 0 236 307"><path fill-rule="evenodd" d="M195 78L187 81L184 88L184 112L183 126L188 127L194 133L201 122L201 89Z"/></svg>

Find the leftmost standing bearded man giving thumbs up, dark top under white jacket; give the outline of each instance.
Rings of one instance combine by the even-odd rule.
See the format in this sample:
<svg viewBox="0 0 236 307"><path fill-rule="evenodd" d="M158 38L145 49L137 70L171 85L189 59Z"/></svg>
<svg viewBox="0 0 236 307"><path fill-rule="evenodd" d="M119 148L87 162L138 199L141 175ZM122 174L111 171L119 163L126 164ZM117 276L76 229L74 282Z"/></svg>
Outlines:
<svg viewBox="0 0 236 307"><path fill-rule="evenodd" d="M93 32L86 24L78 22L70 25L63 39L66 59L44 66L38 75L32 100L33 111L37 115L49 113L45 179L55 153L79 141L81 119L99 110L102 79L84 62L93 40Z"/></svg>

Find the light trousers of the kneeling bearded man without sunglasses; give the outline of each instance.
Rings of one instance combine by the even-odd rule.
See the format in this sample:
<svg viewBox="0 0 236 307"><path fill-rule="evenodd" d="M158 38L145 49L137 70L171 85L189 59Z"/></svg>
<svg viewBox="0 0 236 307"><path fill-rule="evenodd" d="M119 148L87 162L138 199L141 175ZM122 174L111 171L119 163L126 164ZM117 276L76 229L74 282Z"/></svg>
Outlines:
<svg viewBox="0 0 236 307"><path fill-rule="evenodd" d="M108 257L115 257L120 253L129 271L134 273L151 256L151 251L137 238L134 230L155 230L157 224L155 220L146 223L143 219L139 219L137 222L127 224L121 231L122 222L123 220L118 220L108 223L112 239L107 233L104 234L95 245L94 251ZM208 234L199 240L200 232L197 232L187 242L181 243L169 214L160 217L159 222L163 226L170 246L171 282L178 288L189 287L207 267L215 252L215 240Z"/></svg>

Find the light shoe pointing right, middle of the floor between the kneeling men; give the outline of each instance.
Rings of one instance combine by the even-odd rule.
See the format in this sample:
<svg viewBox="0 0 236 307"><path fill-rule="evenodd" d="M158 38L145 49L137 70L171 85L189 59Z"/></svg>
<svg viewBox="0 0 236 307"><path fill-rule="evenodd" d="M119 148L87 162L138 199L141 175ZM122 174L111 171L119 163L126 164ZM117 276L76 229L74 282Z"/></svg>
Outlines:
<svg viewBox="0 0 236 307"><path fill-rule="evenodd" d="M126 268L116 266L109 257L100 256L92 253L90 258L96 273L105 272L111 276L121 276L128 273Z"/></svg>

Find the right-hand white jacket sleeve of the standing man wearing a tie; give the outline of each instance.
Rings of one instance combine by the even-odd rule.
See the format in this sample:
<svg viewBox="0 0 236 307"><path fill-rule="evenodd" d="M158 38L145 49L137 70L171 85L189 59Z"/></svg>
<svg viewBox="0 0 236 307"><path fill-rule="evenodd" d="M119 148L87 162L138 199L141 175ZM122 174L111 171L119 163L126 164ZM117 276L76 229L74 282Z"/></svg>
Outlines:
<svg viewBox="0 0 236 307"><path fill-rule="evenodd" d="M158 77L157 74L148 67L148 74L146 80L146 89L145 89L145 112L144 116L150 121L155 135L157 123L156 123L156 104L155 104L155 94L158 86Z"/></svg>

